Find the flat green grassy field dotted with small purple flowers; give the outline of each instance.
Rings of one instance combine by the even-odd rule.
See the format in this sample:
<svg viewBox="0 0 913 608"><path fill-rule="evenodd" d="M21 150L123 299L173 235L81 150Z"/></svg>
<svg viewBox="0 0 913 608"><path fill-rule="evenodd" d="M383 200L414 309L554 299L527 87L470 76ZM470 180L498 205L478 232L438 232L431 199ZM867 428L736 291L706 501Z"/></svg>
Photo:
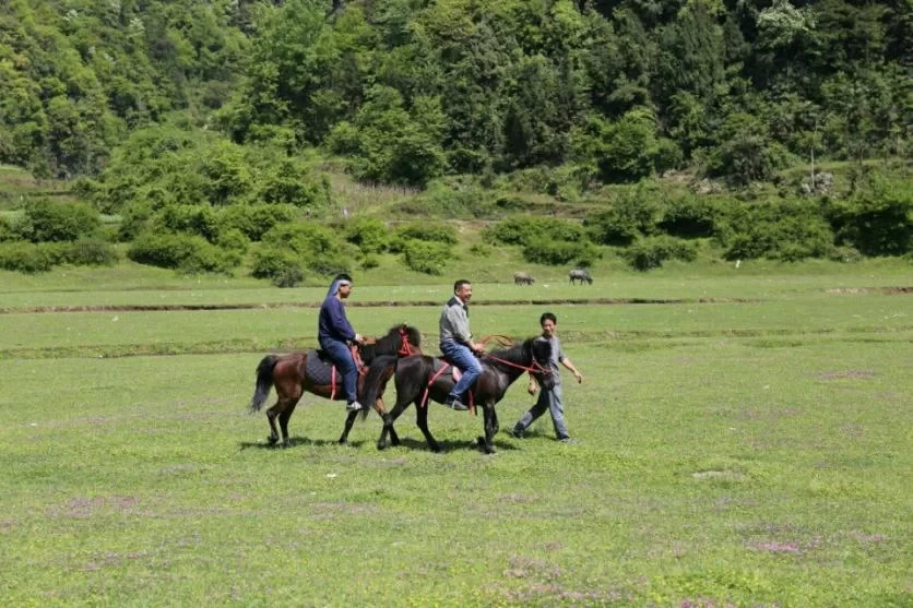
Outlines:
<svg viewBox="0 0 913 608"><path fill-rule="evenodd" d="M443 455L412 409L402 446L375 449L372 415L342 448L342 405L312 396L293 446L268 448L265 416L246 409L253 369L316 343L317 284L0 275L0 597L913 604L909 265L604 269L574 289L552 272L530 289L479 281L473 326L523 337L558 314L586 377L565 378L580 442L556 442L546 417L499 434L494 456L473 448L481 418L438 405ZM367 273L352 303L390 306L349 317L366 334L413 323L434 351L446 283ZM522 384L498 407L503 429L531 405Z"/></svg>

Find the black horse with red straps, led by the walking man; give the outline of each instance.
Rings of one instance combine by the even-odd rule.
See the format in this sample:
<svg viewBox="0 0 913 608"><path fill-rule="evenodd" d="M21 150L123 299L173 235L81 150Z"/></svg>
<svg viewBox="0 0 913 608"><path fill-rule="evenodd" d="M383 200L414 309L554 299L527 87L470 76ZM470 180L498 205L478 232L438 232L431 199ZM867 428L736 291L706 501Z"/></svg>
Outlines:
<svg viewBox="0 0 913 608"><path fill-rule="evenodd" d="M524 371L532 373L545 390L552 389L555 379L548 365L552 345L546 341L529 338L510 348L493 350L481 357L482 375L471 389L472 403L483 407L485 437L479 437L478 445L486 454L495 452L491 438L498 432L498 415L495 404L505 396L508 386ZM443 358L416 355L396 359L378 357L368 368L365 379L365 398L367 403L382 393L391 372L395 378L396 405L383 416L383 430L377 441L378 450L387 446L387 436L393 445L400 443L393 422L411 403L415 403L415 419L428 446L440 452L441 448L428 430L428 400L443 403L453 388L451 366Z"/></svg>

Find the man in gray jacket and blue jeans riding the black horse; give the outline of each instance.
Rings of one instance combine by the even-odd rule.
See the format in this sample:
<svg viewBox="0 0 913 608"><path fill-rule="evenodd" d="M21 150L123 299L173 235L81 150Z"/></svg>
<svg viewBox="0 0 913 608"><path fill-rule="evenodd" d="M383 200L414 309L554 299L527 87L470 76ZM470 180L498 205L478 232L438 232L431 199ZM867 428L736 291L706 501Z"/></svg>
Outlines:
<svg viewBox="0 0 913 608"><path fill-rule="evenodd" d="M485 347L472 339L469 309L472 297L472 283L461 278L453 284L453 297L447 301L440 314L441 353L463 372L444 401L444 405L453 409L469 409L463 394L482 373L482 363L475 355L484 353Z"/></svg>

